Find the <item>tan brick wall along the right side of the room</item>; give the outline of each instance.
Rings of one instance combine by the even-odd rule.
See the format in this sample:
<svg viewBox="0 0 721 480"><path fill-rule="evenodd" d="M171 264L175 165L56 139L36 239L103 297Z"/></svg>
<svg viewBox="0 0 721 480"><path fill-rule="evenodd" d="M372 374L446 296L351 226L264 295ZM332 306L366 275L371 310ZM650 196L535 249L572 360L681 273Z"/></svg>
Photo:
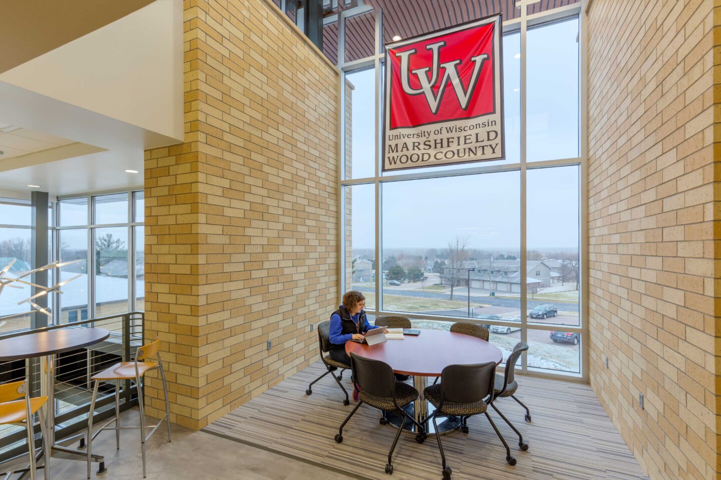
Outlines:
<svg viewBox="0 0 721 480"><path fill-rule="evenodd" d="M719 471L714 6L588 16L590 384L652 480Z"/></svg>

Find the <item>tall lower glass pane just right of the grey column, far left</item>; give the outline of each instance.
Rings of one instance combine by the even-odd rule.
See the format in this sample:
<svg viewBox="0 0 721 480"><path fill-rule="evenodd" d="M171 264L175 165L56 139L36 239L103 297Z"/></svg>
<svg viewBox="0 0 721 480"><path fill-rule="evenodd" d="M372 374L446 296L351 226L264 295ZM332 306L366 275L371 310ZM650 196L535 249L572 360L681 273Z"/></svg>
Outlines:
<svg viewBox="0 0 721 480"><path fill-rule="evenodd" d="M61 307L60 322L77 322L88 317L88 231L85 228L76 230L59 230L60 259L62 261L80 260L78 263L60 268L60 281L68 281L63 286L63 294L59 295Z"/></svg>

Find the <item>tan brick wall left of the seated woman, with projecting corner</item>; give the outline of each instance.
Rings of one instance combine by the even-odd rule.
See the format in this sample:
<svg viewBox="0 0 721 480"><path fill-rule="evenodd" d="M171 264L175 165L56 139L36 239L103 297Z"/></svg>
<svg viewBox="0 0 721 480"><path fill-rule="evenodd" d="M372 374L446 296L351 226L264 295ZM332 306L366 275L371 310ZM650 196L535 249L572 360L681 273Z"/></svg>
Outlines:
<svg viewBox="0 0 721 480"><path fill-rule="evenodd" d="M146 336L172 421L200 428L317 358L310 324L338 296L338 73L267 0L185 0L184 47L185 143L146 151Z"/></svg>

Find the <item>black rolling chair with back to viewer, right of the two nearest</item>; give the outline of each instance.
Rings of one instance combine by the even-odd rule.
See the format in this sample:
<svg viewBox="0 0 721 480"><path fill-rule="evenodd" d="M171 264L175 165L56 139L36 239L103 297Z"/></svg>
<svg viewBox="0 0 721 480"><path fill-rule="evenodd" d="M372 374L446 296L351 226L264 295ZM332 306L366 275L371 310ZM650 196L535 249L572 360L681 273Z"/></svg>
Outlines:
<svg viewBox="0 0 721 480"><path fill-rule="evenodd" d="M438 415L455 415L467 419L481 413L486 415L496 435L505 446L505 460L510 465L516 465L516 458L510 455L508 443L488 415L488 405L493 402L493 386L495 384L495 362L477 363L476 365L449 365L443 368L441 383L431 385L423 390L425 398L433 404L433 412L428 420L433 420L435 439L438 440L438 449L441 450L441 463L443 464L443 479L451 478L451 467L446 466L446 454L443 453L441 435L438 434ZM424 423L425 423L424 422Z"/></svg>

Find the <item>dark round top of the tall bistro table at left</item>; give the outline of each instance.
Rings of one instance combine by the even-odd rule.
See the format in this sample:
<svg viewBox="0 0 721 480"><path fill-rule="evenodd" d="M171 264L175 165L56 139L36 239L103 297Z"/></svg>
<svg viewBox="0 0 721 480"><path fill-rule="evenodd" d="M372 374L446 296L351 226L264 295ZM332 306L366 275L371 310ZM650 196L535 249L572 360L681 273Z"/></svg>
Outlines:
<svg viewBox="0 0 721 480"><path fill-rule="evenodd" d="M61 328L5 338L0 340L0 361L69 352L102 342L109 336L105 328Z"/></svg>

